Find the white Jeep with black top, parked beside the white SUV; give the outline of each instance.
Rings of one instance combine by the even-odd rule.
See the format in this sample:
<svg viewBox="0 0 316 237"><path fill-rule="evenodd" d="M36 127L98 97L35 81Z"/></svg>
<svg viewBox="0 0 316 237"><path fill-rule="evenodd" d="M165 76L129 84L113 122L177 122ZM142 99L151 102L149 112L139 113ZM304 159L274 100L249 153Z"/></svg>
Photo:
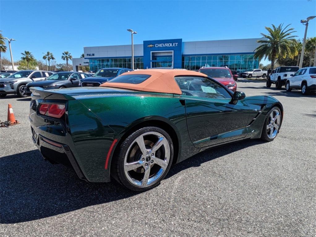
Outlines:
<svg viewBox="0 0 316 237"><path fill-rule="evenodd" d="M266 86L271 87L271 84L276 84L276 88L281 89L282 86L285 86L286 80L293 76L297 70L299 70L299 67L297 66L276 68L274 73L268 77Z"/></svg>

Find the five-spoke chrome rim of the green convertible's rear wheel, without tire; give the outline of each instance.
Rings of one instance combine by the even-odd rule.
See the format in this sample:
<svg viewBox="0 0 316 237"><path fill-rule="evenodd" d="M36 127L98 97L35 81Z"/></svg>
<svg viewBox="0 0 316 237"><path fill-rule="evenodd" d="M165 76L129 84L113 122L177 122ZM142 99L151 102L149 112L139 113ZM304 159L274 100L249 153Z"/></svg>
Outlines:
<svg viewBox="0 0 316 237"><path fill-rule="evenodd" d="M170 144L159 132L145 132L127 149L124 173L136 186L149 186L165 173L170 160Z"/></svg>

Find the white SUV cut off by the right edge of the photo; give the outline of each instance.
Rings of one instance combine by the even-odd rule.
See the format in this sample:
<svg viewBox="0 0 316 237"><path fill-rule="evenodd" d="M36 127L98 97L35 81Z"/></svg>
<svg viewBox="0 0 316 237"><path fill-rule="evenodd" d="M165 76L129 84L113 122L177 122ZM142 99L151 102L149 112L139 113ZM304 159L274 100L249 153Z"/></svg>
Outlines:
<svg viewBox="0 0 316 237"><path fill-rule="evenodd" d="M316 91L316 67L301 68L285 84L286 91L301 89L302 94Z"/></svg>

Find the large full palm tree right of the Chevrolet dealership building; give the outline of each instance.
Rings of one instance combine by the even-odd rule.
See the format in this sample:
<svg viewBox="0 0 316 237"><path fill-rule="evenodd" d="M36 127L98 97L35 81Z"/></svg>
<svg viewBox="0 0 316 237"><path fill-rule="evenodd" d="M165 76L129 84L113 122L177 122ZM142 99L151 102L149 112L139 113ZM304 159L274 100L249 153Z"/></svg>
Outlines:
<svg viewBox="0 0 316 237"><path fill-rule="evenodd" d="M268 34L261 33L262 40L257 40L261 45L255 49L255 58L268 58L271 61L271 70L274 68L274 63L277 58L294 58L297 55L296 40L293 39L296 35L291 35L294 28L287 29L289 25L283 28L283 24L278 27L272 24L272 28L265 27Z"/></svg>

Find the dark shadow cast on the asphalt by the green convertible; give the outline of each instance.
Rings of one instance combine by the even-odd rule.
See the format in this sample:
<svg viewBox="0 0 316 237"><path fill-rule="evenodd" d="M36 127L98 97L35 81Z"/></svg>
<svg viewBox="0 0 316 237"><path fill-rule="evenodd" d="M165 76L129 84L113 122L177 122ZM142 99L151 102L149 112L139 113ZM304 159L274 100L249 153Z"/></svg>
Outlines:
<svg viewBox="0 0 316 237"><path fill-rule="evenodd" d="M202 163L240 149L262 143L247 140L194 155L171 167L167 178ZM137 195L114 180L111 183L88 183L63 165L44 161L38 150L0 158L0 223L18 223L108 203Z"/></svg>

